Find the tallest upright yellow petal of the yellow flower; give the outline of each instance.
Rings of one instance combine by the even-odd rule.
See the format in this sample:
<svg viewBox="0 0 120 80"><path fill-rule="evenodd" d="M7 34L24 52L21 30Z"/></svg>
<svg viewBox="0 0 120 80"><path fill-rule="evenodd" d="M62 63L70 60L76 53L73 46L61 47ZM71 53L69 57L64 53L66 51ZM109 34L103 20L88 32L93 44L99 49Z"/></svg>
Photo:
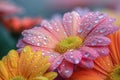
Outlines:
<svg viewBox="0 0 120 80"><path fill-rule="evenodd" d="M28 74L25 74L25 73L26 73L26 71L29 71L28 66L31 63L33 57L34 57L34 53L32 52L30 47L26 46L25 48L23 48L23 50L20 54L19 68L18 68L20 75L28 75L29 74L29 73ZM34 64L32 64L31 67Z"/></svg>

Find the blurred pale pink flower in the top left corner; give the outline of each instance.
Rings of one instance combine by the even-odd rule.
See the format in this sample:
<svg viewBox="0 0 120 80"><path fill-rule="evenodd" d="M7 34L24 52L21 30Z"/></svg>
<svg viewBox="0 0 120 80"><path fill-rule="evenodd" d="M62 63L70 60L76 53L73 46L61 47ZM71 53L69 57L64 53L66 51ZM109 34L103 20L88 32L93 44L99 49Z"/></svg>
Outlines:
<svg viewBox="0 0 120 80"><path fill-rule="evenodd" d="M0 17L21 12L21 9L7 0L0 1Z"/></svg>

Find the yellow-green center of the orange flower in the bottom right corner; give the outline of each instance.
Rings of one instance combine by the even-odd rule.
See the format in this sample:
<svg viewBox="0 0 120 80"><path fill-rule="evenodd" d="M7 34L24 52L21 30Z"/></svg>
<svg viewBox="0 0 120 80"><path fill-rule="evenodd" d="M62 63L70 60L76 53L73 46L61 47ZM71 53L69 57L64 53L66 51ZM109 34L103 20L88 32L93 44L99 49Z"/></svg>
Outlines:
<svg viewBox="0 0 120 80"><path fill-rule="evenodd" d="M120 66L115 67L109 77L111 80L120 80Z"/></svg>

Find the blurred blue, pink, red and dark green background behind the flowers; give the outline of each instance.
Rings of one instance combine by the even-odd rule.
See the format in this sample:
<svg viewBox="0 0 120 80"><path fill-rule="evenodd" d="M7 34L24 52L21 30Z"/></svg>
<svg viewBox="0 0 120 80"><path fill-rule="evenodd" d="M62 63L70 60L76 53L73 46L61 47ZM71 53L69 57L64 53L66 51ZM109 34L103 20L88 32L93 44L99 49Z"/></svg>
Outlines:
<svg viewBox="0 0 120 80"><path fill-rule="evenodd" d="M117 18L115 25L120 26L119 4L120 0L0 0L0 58L9 50L17 49L24 29L76 7L106 12Z"/></svg>

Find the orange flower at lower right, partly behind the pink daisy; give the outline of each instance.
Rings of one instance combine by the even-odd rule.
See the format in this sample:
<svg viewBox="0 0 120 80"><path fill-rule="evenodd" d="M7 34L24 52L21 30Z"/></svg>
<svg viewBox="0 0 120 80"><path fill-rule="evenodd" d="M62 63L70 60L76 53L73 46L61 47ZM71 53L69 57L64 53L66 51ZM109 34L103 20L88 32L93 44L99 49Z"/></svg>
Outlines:
<svg viewBox="0 0 120 80"><path fill-rule="evenodd" d="M110 54L95 60L92 70L79 70L68 80L120 80L120 30L109 36Z"/></svg>

